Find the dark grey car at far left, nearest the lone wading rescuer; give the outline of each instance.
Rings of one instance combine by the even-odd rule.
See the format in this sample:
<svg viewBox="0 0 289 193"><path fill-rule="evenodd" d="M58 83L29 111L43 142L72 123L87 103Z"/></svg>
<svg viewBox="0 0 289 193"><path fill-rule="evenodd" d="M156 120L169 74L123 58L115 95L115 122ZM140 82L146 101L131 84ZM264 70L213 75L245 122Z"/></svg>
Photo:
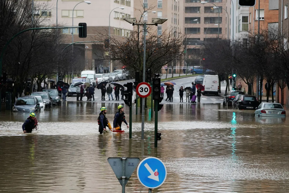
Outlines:
<svg viewBox="0 0 289 193"><path fill-rule="evenodd" d="M18 112L40 112L40 104L34 96L18 97L12 111Z"/></svg>

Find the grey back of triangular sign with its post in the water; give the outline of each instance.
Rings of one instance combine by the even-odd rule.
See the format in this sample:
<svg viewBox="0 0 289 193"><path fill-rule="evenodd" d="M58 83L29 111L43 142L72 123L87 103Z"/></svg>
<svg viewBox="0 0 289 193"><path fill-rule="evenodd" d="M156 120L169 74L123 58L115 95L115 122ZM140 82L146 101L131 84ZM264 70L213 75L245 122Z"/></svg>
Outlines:
<svg viewBox="0 0 289 193"><path fill-rule="evenodd" d="M108 163L114 171L116 178L122 186L122 193L125 193L125 185L140 162L138 157L109 157Z"/></svg>

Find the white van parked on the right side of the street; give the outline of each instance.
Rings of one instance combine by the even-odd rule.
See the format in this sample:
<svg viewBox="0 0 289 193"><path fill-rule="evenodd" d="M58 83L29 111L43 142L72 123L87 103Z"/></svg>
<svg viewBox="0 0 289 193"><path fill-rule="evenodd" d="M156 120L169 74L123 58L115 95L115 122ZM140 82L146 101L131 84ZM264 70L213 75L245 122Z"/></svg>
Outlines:
<svg viewBox="0 0 289 193"><path fill-rule="evenodd" d="M218 75L204 75L203 86L205 90L202 94L214 94L219 95L219 77Z"/></svg>

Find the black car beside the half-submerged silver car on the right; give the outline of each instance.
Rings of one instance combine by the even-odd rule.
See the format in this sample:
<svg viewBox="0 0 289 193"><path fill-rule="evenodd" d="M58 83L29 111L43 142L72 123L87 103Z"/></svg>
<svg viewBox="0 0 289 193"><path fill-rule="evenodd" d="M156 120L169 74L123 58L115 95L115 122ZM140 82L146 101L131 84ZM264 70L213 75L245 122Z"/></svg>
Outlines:
<svg viewBox="0 0 289 193"><path fill-rule="evenodd" d="M255 109L259 106L258 99L253 95L242 95L236 102L236 109Z"/></svg>

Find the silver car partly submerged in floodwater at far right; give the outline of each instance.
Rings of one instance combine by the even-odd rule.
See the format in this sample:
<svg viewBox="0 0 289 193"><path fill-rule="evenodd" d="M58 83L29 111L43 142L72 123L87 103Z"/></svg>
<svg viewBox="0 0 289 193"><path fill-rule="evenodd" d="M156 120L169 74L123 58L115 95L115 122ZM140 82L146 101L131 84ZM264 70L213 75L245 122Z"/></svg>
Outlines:
<svg viewBox="0 0 289 193"><path fill-rule="evenodd" d="M258 117L286 117L286 111L280 103L261 102L256 107L254 115Z"/></svg>

